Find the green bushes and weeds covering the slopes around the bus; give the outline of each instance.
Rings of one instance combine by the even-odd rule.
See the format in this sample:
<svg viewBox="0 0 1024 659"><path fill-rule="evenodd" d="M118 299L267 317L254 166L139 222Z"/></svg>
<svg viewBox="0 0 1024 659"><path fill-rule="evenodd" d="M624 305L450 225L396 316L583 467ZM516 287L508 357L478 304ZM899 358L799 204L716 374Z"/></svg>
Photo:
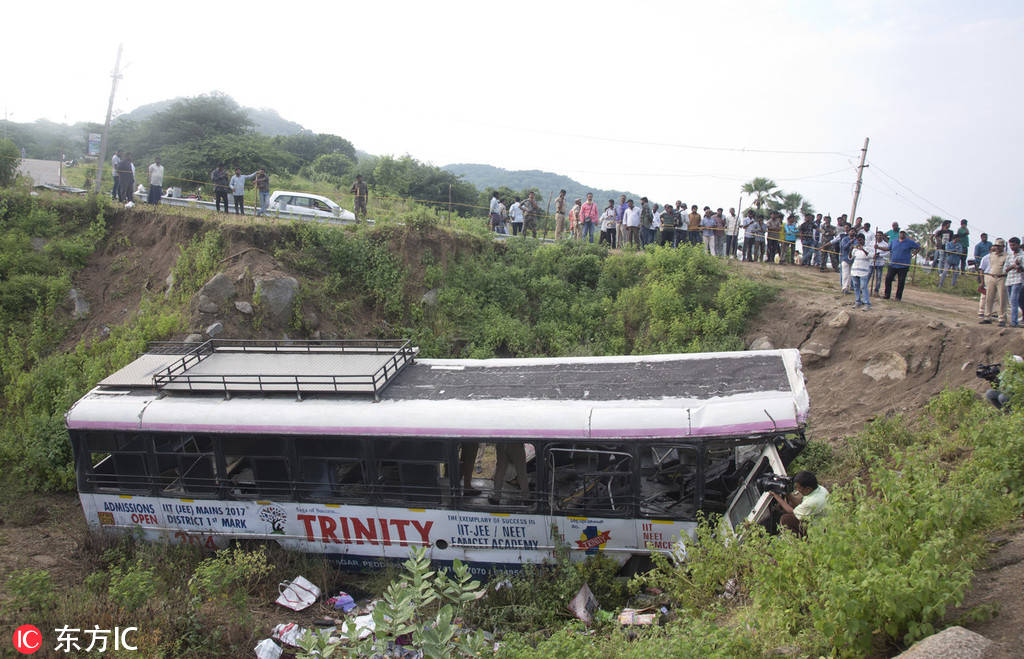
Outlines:
<svg viewBox="0 0 1024 659"><path fill-rule="evenodd" d="M170 296L146 294L124 324L79 336L68 294L112 239L115 212L124 211L102 200L0 191L0 484L12 522L32 492L74 488L67 408L147 341L184 333L189 299L225 256L222 220L204 223L181 246ZM304 294L323 313L373 308L381 336L409 336L424 356L741 349L745 323L772 296L700 249L503 244L439 223L416 205L376 227L289 223L274 227L273 257L315 281ZM1009 386L1024 390L1022 368L1010 370ZM380 635L412 632L431 656L494 652L495 642L508 657L759 657L778 648L882 655L949 622L985 554L984 533L1020 514L1022 422L1021 411L999 413L958 390L912 425L885 418L840 445L812 441L794 469L840 485L831 514L806 540L755 528L742 542L727 541L709 519L685 564L659 560L630 581L601 556L582 564L561 556L473 584L434 574L416 557L401 574L352 577L274 545L211 555L83 537L75 560L84 580L59 582L45 568L3 575L0 612L50 629L144 621L138 641L147 656L249 656L287 619L271 604L278 583L303 574L326 591L390 594L393 615ZM590 628L565 609L585 583L601 605ZM664 624L623 628L615 616L624 606L653 607Z"/></svg>

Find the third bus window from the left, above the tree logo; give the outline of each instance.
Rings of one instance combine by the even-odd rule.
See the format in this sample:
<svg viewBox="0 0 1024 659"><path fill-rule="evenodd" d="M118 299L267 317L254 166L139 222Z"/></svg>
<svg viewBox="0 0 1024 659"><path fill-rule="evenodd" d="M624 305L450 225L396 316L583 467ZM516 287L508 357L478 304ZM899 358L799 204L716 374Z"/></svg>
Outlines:
<svg viewBox="0 0 1024 659"><path fill-rule="evenodd" d="M240 497L289 495L291 470L288 447L280 437L224 437L224 476L227 491Z"/></svg>

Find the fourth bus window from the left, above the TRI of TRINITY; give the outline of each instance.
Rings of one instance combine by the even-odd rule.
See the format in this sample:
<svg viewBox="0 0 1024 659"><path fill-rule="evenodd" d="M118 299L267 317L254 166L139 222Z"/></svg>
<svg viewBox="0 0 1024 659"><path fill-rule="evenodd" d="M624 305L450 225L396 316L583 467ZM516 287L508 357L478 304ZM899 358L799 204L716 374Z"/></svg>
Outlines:
<svg viewBox="0 0 1024 659"><path fill-rule="evenodd" d="M296 489L312 500L362 503L370 498L362 440L302 437L295 440L302 481Z"/></svg>

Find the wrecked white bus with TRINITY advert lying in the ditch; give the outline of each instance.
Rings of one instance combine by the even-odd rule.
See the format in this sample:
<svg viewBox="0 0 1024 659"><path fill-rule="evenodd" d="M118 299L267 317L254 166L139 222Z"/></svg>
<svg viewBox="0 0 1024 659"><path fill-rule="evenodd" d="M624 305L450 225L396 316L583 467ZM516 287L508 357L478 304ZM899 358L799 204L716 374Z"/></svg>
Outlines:
<svg viewBox="0 0 1024 659"><path fill-rule="evenodd" d="M353 569L420 545L479 573L558 545L636 568L700 512L758 521L808 409L796 350L477 360L211 340L151 345L67 426L94 532L270 540ZM484 469L496 450L524 455L525 484Z"/></svg>

